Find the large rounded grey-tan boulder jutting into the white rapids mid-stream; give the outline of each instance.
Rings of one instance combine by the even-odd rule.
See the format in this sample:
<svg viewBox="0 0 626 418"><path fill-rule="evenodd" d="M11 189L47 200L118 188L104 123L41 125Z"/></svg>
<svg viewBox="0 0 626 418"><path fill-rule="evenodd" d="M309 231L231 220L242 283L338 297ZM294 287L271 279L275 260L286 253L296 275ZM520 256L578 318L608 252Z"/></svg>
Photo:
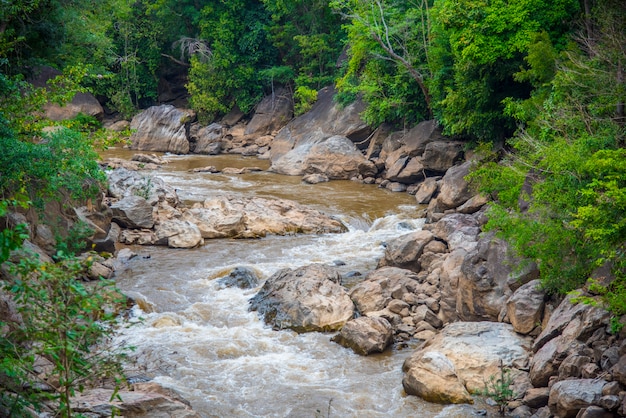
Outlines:
<svg viewBox="0 0 626 418"><path fill-rule="evenodd" d="M354 316L354 304L340 283L339 273L321 264L283 269L250 300L250 310L276 329L336 331Z"/></svg>

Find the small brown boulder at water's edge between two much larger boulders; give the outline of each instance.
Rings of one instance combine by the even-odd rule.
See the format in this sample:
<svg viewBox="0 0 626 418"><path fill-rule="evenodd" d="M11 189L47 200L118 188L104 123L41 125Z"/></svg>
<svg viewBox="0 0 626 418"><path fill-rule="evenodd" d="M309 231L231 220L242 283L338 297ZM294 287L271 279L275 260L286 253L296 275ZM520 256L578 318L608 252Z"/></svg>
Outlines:
<svg viewBox="0 0 626 418"><path fill-rule="evenodd" d="M357 354L367 356L385 351L393 341L393 329L384 318L362 316L346 322L331 340Z"/></svg>

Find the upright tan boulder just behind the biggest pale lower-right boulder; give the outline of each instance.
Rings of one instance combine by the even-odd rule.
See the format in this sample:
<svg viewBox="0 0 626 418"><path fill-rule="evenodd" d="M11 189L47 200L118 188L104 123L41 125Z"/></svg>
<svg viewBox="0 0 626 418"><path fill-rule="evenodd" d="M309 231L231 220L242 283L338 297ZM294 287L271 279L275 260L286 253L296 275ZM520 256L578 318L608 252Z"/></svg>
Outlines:
<svg viewBox="0 0 626 418"><path fill-rule="evenodd" d="M529 334L541 324L545 292L540 280L532 280L515 291L506 301L506 314L515 331Z"/></svg>

